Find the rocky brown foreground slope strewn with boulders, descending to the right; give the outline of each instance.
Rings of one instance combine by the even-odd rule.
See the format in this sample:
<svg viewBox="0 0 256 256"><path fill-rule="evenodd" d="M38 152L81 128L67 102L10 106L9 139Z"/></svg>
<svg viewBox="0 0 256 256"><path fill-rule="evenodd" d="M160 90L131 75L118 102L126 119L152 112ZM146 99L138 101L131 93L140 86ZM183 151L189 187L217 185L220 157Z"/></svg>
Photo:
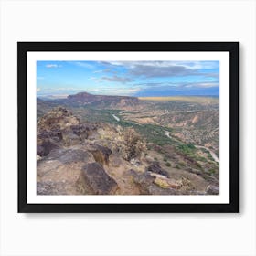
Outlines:
<svg viewBox="0 0 256 256"><path fill-rule="evenodd" d="M219 193L218 187L208 187L218 183L210 181L202 168L198 171L194 165L187 170L176 170L173 165L164 168L166 162L158 156L163 148L153 148L153 154L145 155L146 146L133 128L80 123L65 108L55 108L37 123L37 195ZM174 152L171 148L163 154L177 163L181 156Z"/></svg>

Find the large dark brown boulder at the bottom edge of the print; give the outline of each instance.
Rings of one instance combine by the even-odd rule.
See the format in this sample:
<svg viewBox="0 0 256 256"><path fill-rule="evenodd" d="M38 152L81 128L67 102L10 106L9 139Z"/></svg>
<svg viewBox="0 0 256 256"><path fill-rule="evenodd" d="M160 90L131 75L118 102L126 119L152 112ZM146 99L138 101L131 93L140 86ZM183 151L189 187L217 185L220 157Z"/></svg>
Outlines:
<svg viewBox="0 0 256 256"><path fill-rule="evenodd" d="M90 191L94 195L110 195L118 189L115 180L99 163L91 163L82 167L78 185L81 190Z"/></svg>

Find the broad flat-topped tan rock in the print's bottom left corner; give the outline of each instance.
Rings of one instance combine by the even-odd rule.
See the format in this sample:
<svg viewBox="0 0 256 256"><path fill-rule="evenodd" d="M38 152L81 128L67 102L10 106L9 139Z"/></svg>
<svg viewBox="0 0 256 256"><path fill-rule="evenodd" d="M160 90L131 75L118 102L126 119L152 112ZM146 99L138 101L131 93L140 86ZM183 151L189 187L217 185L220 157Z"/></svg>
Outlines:
<svg viewBox="0 0 256 256"><path fill-rule="evenodd" d="M52 150L37 160L37 195L80 195L82 166L93 162L93 155L79 148Z"/></svg>

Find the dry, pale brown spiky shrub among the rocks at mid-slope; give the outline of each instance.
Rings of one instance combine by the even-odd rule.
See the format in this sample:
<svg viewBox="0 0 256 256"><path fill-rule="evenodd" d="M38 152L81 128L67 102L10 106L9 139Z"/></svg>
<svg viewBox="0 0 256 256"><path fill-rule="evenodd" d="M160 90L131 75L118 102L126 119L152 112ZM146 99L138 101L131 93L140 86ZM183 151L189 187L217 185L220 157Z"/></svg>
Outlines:
<svg viewBox="0 0 256 256"><path fill-rule="evenodd" d="M146 152L146 143L139 133L136 133L133 128L125 129L123 133L123 144L121 152L123 158L127 161L135 157L140 157Z"/></svg>

